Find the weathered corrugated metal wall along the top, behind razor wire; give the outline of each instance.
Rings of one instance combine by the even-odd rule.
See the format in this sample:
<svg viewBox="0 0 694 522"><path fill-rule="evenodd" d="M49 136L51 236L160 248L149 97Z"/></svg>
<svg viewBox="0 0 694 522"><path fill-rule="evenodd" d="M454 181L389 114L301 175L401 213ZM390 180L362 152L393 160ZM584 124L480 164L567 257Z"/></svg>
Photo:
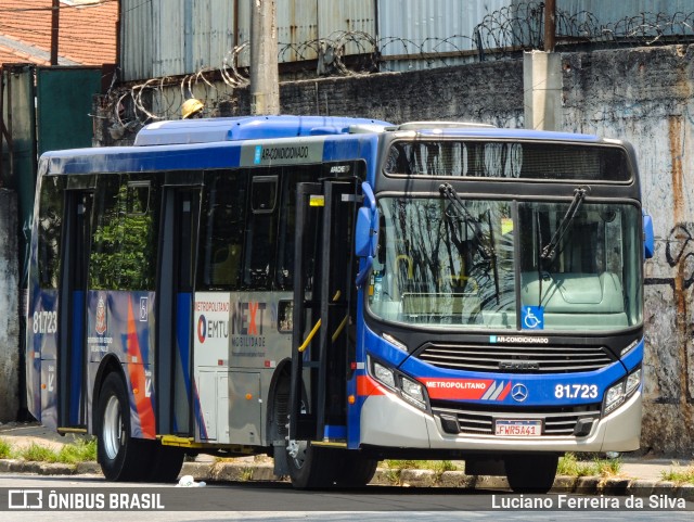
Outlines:
<svg viewBox="0 0 694 522"><path fill-rule="evenodd" d="M248 0L120 0L124 80L194 74L223 66L237 43L249 40ZM525 0L277 0L280 62L314 60L318 39L346 44L346 54L369 53L373 41L386 60L384 69L455 65L468 60L454 56L474 52L475 26L486 15L504 9L505 15ZM538 7L539 1L535 2ZM694 0L562 0L568 13L588 11L600 24L614 24L640 12L694 12ZM507 23L504 17L501 23ZM493 25L493 24L492 24ZM509 28L504 28L506 30ZM511 30L497 35L499 46L514 42ZM364 36L365 35L365 36ZM426 53L450 53L444 61ZM237 56L247 66L246 49Z"/></svg>

